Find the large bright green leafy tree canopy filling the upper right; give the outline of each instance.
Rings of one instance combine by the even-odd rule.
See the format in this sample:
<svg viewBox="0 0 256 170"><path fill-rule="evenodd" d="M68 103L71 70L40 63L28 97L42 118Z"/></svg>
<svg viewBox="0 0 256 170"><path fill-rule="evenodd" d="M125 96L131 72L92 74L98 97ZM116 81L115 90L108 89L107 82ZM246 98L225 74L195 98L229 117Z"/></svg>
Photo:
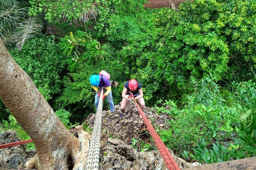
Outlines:
<svg viewBox="0 0 256 170"><path fill-rule="evenodd" d="M188 1L181 4L180 13L168 9L156 13L155 23L160 30L156 45L163 56L159 61L168 63L163 68L164 76L180 83L189 75L198 78L210 72L218 79L231 79L240 67L242 75L237 76L248 78L248 65L255 63L255 41L251 36L255 32L255 15L251 12L254 3Z"/></svg>

